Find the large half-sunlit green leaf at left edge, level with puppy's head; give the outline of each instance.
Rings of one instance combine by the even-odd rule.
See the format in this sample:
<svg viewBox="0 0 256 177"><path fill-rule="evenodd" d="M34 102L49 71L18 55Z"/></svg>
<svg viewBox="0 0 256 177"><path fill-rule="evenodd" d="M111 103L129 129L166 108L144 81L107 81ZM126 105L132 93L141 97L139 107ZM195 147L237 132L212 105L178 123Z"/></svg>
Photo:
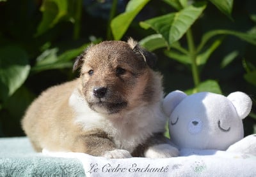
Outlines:
<svg viewBox="0 0 256 177"><path fill-rule="evenodd" d="M28 54L17 46L0 48L0 99L5 101L24 83L30 71Z"/></svg>

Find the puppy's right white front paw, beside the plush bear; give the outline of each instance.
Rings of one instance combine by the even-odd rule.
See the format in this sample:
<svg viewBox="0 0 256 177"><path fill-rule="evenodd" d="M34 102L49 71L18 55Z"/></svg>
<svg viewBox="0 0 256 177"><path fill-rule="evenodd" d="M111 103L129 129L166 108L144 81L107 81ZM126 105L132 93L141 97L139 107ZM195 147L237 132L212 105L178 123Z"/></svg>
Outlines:
<svg viewBox="0 0 256 177"><path fill-rule="evenodd" d="M179 150L169 144L159 144L150 146L145 151L145 157L148 158L168 158L177 157L179 155Z"/></svg>

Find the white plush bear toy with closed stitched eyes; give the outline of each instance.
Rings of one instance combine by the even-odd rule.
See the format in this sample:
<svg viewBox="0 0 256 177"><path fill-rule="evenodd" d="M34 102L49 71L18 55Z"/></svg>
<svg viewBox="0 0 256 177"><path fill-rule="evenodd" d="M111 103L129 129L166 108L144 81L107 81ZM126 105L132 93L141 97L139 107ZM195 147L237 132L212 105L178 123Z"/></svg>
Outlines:
<svg viewBox="0 0 256 177"><path fill-rule="evenodd" d="M242 120L252 109L252 100L243 92L187 96L177 90L164 98L163 109L169 117L170 138L180 149L256 154L256 135L243 138Z"/></svg>

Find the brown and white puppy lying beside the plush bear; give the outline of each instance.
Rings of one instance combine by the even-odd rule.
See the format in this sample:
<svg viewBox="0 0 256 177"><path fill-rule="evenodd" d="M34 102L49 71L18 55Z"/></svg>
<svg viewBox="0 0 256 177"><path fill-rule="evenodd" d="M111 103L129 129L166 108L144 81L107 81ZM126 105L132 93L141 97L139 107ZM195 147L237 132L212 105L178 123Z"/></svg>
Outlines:
<svg viewBox="0 0 256 177"><path fill-rule="evenodd" d="M136 41L104 41L74 63L81 76L49 88L29 106L22 128L35 150L107 158L175 157L164 138L161 74Z"/></svg>

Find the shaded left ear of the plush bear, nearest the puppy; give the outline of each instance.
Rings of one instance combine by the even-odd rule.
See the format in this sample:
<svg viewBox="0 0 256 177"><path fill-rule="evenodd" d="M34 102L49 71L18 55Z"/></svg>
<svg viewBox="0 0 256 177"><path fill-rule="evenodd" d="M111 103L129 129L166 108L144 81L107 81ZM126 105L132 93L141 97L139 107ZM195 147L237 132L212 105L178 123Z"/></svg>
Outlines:
<svg viewBox="0 0 256 177"><path fill-rule="evenodd" d="M170 117L172 111L176 108L176 106L186 97L187 95L180 91L175 90L173 92L170 92L163 101L163 110L164 113Z"/></svg>

